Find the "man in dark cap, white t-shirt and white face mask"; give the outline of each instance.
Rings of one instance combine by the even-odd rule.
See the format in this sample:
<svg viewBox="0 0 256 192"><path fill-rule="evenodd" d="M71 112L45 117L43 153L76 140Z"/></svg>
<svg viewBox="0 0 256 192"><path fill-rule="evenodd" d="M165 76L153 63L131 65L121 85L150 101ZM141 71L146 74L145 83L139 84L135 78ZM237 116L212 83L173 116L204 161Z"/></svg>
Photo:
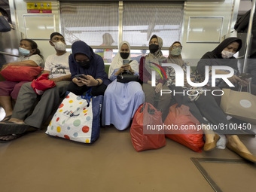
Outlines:
<svg viewBox="0 0 256 192"><path fill-rule="evenodd" d="M66 93L71 81L70 53L66 52L65 39L59 32L53 32L49 42L56 53L47 57L43 74L48 73L49 79L55 82L56 87L45 90L32 114L26 117L37 99L37 94L31 87L31 82L23 84L11 119L0 123L0 141L2 142L19 138L30 126L39 130L42 123L58 106L59 98Z"/></svg>

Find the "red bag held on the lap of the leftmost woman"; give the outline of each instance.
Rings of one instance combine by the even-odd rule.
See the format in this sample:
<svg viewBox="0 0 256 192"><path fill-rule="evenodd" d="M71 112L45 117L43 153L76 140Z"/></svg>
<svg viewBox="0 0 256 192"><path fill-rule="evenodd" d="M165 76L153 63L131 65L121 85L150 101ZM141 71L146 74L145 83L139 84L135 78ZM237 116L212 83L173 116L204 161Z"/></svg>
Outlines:
<svg viewBox="0 0 256 192"><path fill-rule="evenodd" d="M7 81L33 81L38 75L40 75L41 67L29 67L29 66L8 66L3 69L0 74Z"/></svg>

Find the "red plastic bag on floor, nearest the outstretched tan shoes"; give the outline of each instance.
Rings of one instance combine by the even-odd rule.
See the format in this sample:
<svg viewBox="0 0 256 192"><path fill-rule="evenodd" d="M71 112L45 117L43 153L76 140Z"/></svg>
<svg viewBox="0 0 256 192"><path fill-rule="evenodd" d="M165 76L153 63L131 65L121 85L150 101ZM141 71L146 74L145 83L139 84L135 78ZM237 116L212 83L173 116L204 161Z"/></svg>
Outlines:
<svg viewBox="0 0 256 192"><path fill-rule="evenodd" d="M200 122L190 113L189 107L185 105L177 107L177 105L172 105L169 108L169 114L164 121L165 125L171 125L173 127L173 129L166 131L166 137L187 146L187 148L193 151L202 152L204 145L203 130L188 128L196 127L196 125L200 125ZM178 130L175 130L175 127L178 127ZM181 127L183 130L181 130Z"/></svg>

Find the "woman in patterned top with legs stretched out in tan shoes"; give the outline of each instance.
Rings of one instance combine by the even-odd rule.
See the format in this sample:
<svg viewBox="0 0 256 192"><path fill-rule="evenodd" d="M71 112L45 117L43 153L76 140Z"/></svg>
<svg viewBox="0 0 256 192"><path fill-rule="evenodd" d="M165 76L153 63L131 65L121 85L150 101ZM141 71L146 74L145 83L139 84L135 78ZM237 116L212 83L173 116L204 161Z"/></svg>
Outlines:
<svg viewBox="0 0 256 192"><path fill-rule="evenodd" d="M181 49L181 43L175 41L172 46L169 47L169 56L167 62L174 63L180 66L184 71L184 76L186 76L187 66L190 65L188 62L183 61L181 57ZM215 132L218 133L215 134L212 130L209 129L209 127L207 128L207 124L209 122L217 126L220 124L229 125L230 123L227 120L227 115L224 114L224 112L218 106L217 102L215 102L214 97L209 93L203 93L202 90L206 90L204 87L192 87L187 84L187 79L184 80L183 87L176 87L175 69L173 69L172 67L167 67L166 75L168 77L167 85L170 87L170 90L175 90L178 93L183 92L183 90L185 90L185 92L190 90L189 96L176 94L172 97L179 105L187 105L190 108L191 114L193 114L194 117L196 117L197 120L203 125L203 132L206 136L206 143L203 147L204 151L212 151L213 149L215 149L216 143L218 142L218 139L220 139L220 136L218 136L218 134L224 134L227 137L227 148L229 148L236 154L239 154L239 156L245 158L246 160L256 163L256 157L254 157L251 152L248 151L248 148L245 147L245 145L236 135L237 133L239 133L239 131L233 129L219 129L215 130ZM190 78L191 81L194 82L194 72L190 72ZM206 121L204 117L206 117L209 122Z"/></svg>

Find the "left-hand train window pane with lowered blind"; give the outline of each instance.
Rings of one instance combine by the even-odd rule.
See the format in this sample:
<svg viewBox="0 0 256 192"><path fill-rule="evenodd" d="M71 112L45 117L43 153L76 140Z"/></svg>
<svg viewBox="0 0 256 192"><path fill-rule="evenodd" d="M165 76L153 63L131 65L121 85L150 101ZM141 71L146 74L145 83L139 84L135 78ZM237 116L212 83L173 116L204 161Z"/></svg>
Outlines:
<svg viewBox="0 0 256 192"><path fill-rule="evenodd" d="M117 46L118 2L60 2L60 17L67 44Z"/></svg>

